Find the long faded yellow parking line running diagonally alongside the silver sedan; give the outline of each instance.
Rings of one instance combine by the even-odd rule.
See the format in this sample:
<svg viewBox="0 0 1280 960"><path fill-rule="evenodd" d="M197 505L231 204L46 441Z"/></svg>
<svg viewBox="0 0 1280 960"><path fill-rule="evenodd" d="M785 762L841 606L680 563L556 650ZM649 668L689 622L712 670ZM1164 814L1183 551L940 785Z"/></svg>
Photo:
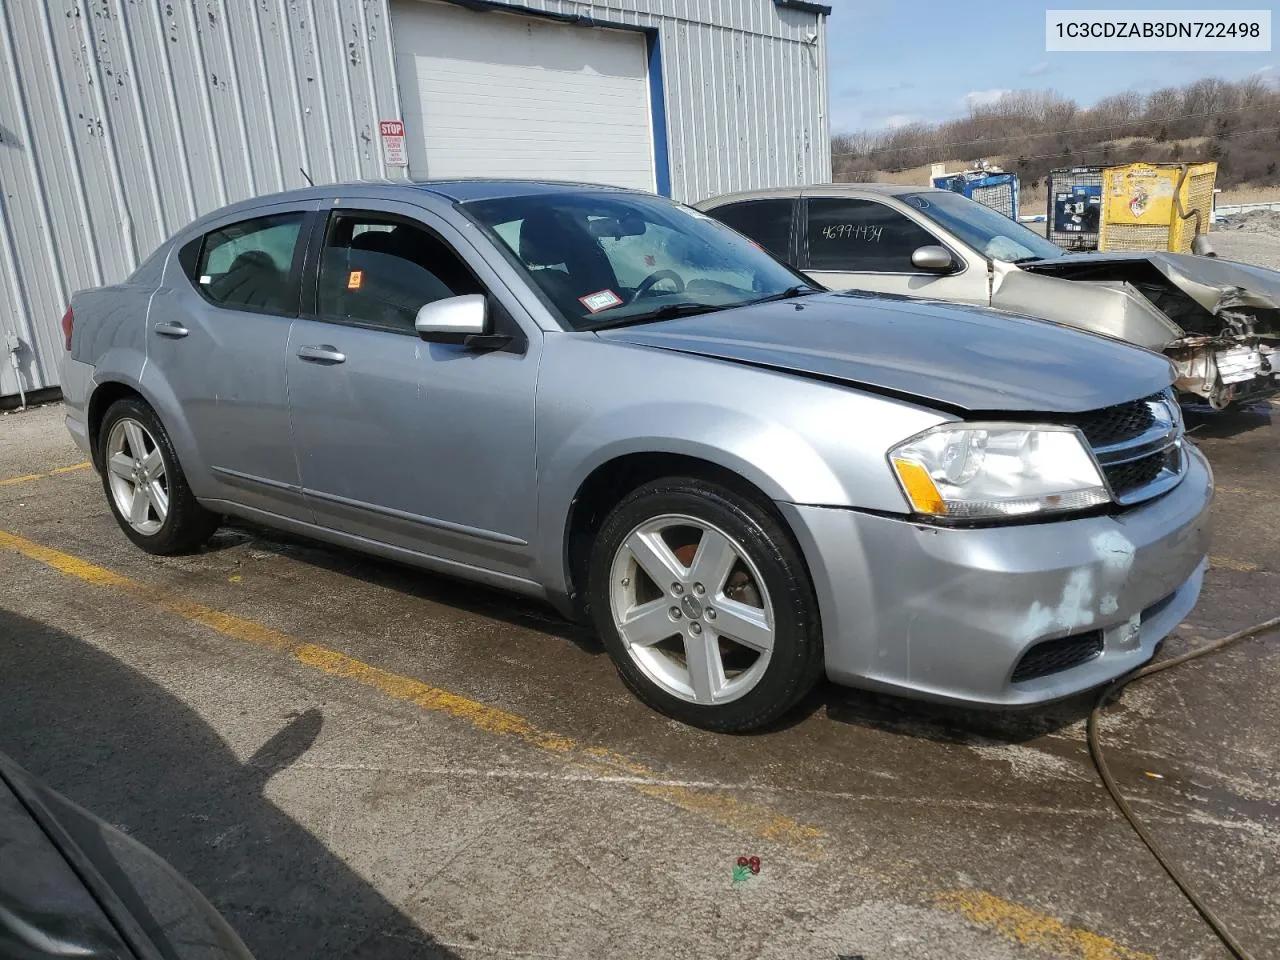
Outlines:
<svg viewBox="0 0 1280 960"><path fill-rule="evenodd" d="M87 584L129 594L233 640L280 650L312 669L334 677L355 680L424 710L465 721L472 727L490 733L517 737L543 750L567 754L575 763L588 768L609 772L622 769L636 776L659 778L654 771L628 760L622 754L602 748L586 746L572 737L540 730L515 713L489 707L411 677L379 669L369 663L317 644L294 640L287 634L282 634L262 623L216 611L201 603L173 596L160 588L142 584L106 567L100 567L79 557L73 557L69 553L27 540L17 534L0 530L0 548L20 553L24 557L45 563ZM635 788L648 796L666 800L682 810L708 817L722 826L763 840L786 844L812 859L822 856L819 845L822 831L800 823L785 814L737 800L722 792L694 787L637 783Z"/></svg>

